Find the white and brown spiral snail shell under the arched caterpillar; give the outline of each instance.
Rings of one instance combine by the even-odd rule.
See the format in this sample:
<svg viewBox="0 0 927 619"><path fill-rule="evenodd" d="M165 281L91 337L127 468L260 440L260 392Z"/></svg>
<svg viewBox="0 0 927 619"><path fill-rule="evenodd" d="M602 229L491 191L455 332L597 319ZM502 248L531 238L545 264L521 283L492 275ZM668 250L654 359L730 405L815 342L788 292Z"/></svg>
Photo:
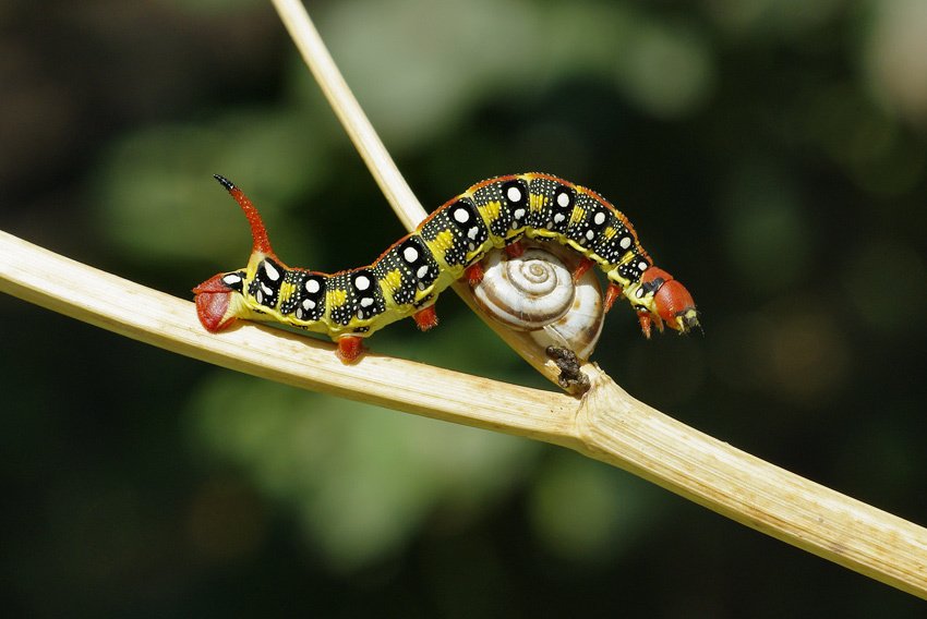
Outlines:
<svg viewBox="0 0 927 619"><path fill-rule="evenodd" d="M579 258L559 244L523 242L525 253L510 258L491 252L483 280L473 288L477 303L496 320L529 331L542 347L562 347L589 359L602 333L604 305L599 279L588 270L577 283Z"/></svg>

